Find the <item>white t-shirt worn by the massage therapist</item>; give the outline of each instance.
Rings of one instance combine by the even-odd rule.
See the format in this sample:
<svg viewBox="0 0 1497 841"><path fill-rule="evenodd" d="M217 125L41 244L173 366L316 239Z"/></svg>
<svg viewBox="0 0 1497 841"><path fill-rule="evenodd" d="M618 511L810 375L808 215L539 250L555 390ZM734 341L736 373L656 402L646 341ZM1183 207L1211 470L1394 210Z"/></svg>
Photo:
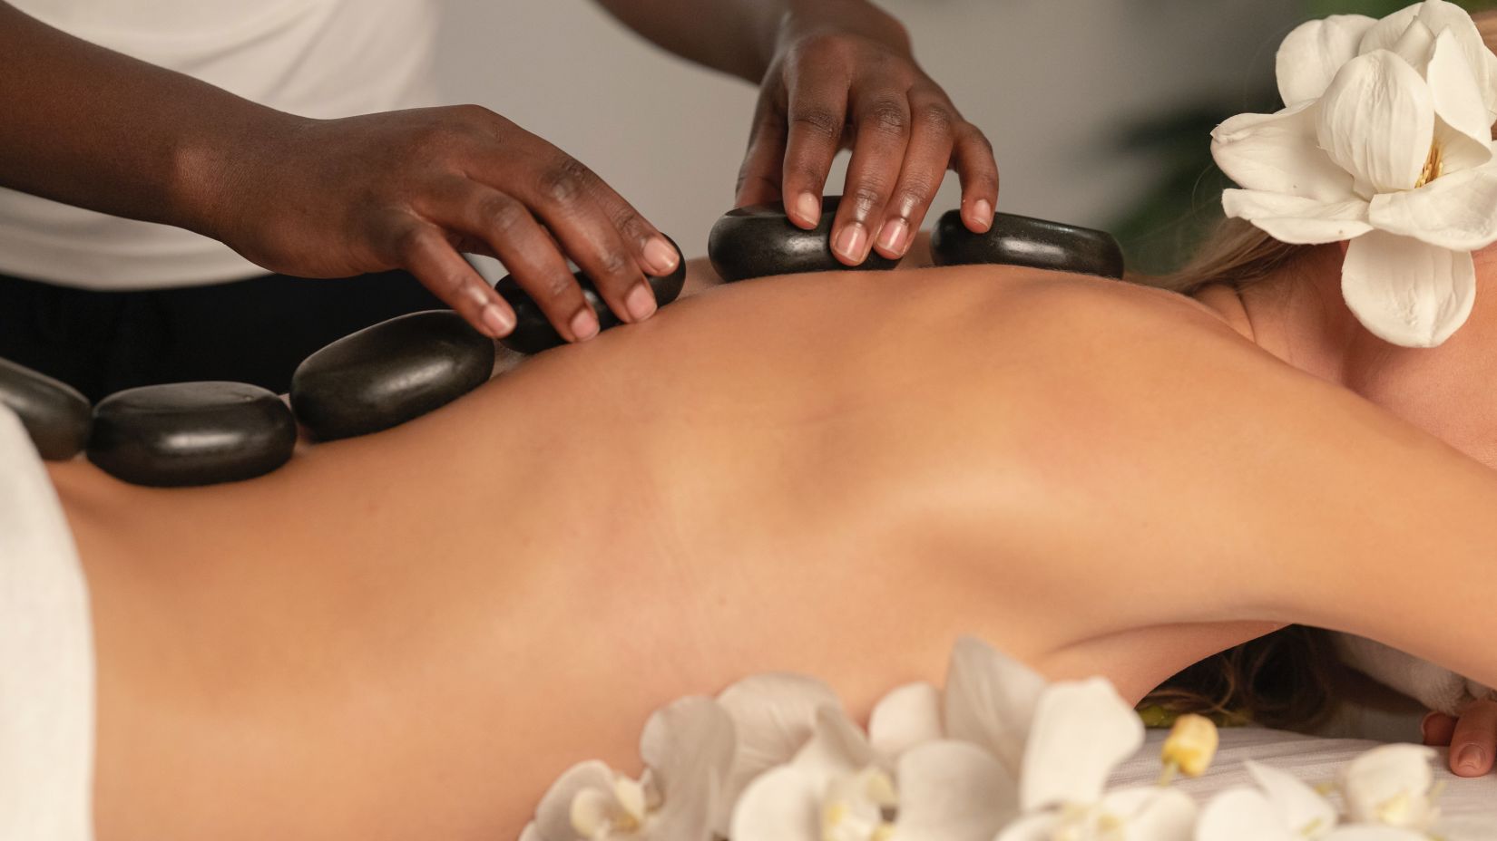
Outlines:
<svg viewBox="0 0 1497 841"><path fill-rule="evenodd" d="M9 1L84 40L302 117L437 102L437 0ZM154 289L265 269L178 227L0 190L0 274L85 289Z"/></svg>

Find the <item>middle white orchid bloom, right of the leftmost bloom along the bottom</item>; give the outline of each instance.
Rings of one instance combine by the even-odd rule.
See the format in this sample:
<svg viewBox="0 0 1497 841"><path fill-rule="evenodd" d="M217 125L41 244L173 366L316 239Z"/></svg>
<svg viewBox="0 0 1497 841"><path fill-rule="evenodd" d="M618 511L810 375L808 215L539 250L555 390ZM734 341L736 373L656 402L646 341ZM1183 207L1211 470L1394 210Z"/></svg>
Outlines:
<svg viewBox="0 0 1497 841"><path fill-rule="evenodd" d="M973 744L924 741L891 760L846 714L822 708L795 759L744 790L729 838L991 841L1015 804L1013 778Z"/></svg>

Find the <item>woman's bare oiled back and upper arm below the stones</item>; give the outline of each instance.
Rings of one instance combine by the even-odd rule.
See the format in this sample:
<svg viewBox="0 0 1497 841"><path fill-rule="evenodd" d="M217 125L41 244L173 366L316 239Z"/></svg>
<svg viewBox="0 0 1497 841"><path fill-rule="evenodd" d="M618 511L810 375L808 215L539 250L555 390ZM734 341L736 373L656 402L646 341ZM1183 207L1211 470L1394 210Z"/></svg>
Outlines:
<svg viewBox="0 0 1497 841"><path fill-rule="evenodd" d="M864 714L967 633L1133 699L1290 621L1497 682L1491 471L1094 278L746 281L259 480L52 476L100 841L513 838L678 696L795 670Z"/></svg>

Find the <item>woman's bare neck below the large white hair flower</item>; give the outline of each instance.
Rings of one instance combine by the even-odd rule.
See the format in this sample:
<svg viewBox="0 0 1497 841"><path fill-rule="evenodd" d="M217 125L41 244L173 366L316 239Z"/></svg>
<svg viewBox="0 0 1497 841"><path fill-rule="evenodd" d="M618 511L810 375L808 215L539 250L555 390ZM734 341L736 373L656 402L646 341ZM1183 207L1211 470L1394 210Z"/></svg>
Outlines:
<svg viewBox="0 0 1497 841"><path fill-rule="evenodd" d="M1272 277L1196 298L1289 365L1341 385L1497 467L1497 253L1476 254L1470 320L1434 349L1388 344L1362 328L1341 298L1344 248L1322 245Z"/></svg>

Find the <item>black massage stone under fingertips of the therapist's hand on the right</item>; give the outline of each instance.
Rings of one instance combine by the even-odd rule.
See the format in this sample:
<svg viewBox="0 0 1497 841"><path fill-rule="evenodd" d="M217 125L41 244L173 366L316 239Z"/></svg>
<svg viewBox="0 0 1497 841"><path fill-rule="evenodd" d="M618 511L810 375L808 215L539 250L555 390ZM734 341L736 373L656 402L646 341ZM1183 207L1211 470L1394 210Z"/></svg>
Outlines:
<svg viewBox="0 0 1497 841"><path fill-rule="evenodd" d="M889 260L877 251L868 251L868 259L859 266L849 266L832 254L832 220L840 204L841 196L826 196L822 221L811 230L790 221L784 205L729 211L713 226L707 256L726 281L811 271L882 271L900 265L900 260Z"/></svg>

